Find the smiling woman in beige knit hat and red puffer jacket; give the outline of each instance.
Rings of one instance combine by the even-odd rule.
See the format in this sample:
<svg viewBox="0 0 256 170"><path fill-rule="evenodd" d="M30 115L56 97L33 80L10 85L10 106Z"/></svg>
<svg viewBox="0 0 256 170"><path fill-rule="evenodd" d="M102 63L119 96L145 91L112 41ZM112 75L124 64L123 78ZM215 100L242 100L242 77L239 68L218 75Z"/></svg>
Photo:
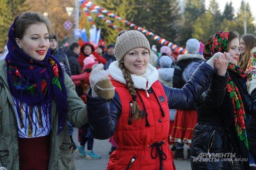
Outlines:
<svg viewBox="0 0 256 170"><path fill-rule="evenodd" d="M175 170L167 142L169 108L186 108L197 101L204 85L216 74L214 67L225 75L228 56L219 54L203 62L182 89L170 88L158 80L158 71L148 64L150 45L144 34L136 30L118 34L117 61L110 64L108 72L102 70L103 64L94 66L87 93L92 136L102 140L113 136L118 145L107 170ZM225 80L226 76L213 76L211 81ZM221 87L217 83L213 86Z"/></svg>

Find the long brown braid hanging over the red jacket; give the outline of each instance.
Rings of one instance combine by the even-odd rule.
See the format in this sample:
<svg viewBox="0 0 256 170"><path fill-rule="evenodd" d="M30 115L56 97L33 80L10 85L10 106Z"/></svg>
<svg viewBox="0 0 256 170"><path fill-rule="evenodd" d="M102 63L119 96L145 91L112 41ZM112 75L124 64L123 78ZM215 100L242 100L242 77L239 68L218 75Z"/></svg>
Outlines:
<svg viewBox="0 0 256 170"><path fill-rule="evenodd" d="M132 102L132 112L133 120L136 120L138 118L143 118L144 114L142 112L142 110L140 110L138 103L136 102L136 91L135 91L135 87L134 87L134 83L132 81L132 77L130 72L124 67L124 62L123 60L121 62L118 63L119 68L122 70L122 73L124 75L124 79L126 81L127 84L127 88L130 92L130 94L132 95L133 98L133 102ZM134 100L135 99L135 100Z"/></svg>

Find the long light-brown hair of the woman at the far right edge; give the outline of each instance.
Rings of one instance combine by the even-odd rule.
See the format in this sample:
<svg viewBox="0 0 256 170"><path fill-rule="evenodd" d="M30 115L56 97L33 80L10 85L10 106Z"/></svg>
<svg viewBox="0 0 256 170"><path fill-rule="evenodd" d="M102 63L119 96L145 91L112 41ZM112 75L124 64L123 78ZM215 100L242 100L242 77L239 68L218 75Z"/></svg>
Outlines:
<svg viewBox="0 0 256 170"><path fill-rule="evenodd" d="M251 56L251 50L256 46L256 37L253 34L245 34L241 39L244 40L246 52L242 56L242 60L238 63L238 66L245 71Z"/></svg>

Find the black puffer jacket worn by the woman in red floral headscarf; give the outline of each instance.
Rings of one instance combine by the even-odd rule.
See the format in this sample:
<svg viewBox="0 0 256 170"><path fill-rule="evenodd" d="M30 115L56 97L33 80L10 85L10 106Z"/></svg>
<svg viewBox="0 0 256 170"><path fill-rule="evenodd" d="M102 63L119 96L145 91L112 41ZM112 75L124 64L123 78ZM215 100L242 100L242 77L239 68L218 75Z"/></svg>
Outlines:
<svg viewBox="0 0 256 170"><path fill-rule="evenodd" d="M193 63L190 65L192 66ZM194 69L188 66L189 69ZM186 72L186 70L185 70ZM193 71L190 71L193 72ZM196 158L209 158L208 154L233 153L236 158L248 158L248 150L244 142L239 140L234 127L233 106L229 94L226 93L228 75L237 85L242 96L246 113L255 112L256 105L252 102L246 90L244 78L238 78L233 72L226 73L226 79L220 80L215 74L211 83L204 88L199 101L196 102L198 124L193 132L191 143L192 170L248 170L249 162L235 161L200 161ZM190 75L186 75L190 77ZM215 87L218 87L216 89ZM200 154L207 156L200 156ZM222 157L227 158L227 157Z"/></svg>

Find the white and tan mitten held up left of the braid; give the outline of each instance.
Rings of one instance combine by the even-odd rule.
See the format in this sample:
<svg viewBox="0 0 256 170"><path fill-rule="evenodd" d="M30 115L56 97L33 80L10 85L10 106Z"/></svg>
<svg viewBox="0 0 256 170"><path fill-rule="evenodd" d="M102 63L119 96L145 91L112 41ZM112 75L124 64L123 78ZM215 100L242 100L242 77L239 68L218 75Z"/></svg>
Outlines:
<svg viewBox="0 0 256 170"><path fill-rule="evenodd" d="M92 97L101 97L110 100L114 97L115 88L110 82L108 72L103 70L103 64L95 64L92 66L92 72L89 80L92 88Z"/></svg>

